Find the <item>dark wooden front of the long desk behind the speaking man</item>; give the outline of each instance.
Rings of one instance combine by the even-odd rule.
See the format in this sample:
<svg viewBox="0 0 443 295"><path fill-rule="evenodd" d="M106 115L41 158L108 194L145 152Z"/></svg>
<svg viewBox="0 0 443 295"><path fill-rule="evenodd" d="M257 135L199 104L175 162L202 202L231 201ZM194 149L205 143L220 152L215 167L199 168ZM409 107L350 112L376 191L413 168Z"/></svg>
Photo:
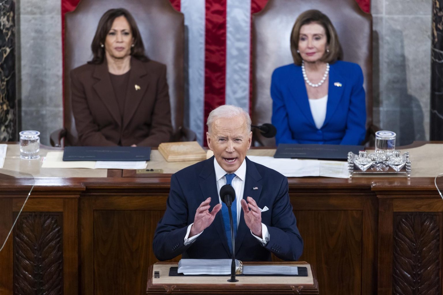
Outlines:
<svg viewBox="0 0 443 295"><path fill-rule="evenodd" d="M437 167L442 161L424 159ZM27 294L48 278L44 288L55 294L144 294L170 174L107 174L0 177L1 241L35 183L0 252L0 294ZM290 178L289 195L305 242L300 259L315 267L323 294L414 294L409 289L420 287L441 295L443 201L433 177Z"/></svg>

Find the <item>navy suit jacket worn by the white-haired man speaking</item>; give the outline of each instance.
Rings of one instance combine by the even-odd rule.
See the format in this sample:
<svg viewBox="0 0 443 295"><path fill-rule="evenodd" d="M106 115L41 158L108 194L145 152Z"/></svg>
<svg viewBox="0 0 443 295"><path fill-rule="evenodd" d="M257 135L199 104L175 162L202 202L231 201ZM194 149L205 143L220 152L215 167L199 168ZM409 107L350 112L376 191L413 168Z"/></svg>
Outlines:
<svg viewBox="0 0 443 295"><path fill-rule="evenodd" d="M283 260L296 261L303 250L303 240L289 202L288 179L275 170L246 161L243 198L250 196L260 208L261 222L270 240L266 246L251 234L243 211L235 239L236 258L241 261L271 261L271 252ZM257 189L253 189L257 188ZM194 222L198 206L211 197L210 210L219 203L214 170L214 157L180 170L171 177L171 191L163 218L154 234L153 249L163 261L182 254L182 258L229 259L228 243L221 211L214 222L190 245L183 245L187 226Z"/></svg>

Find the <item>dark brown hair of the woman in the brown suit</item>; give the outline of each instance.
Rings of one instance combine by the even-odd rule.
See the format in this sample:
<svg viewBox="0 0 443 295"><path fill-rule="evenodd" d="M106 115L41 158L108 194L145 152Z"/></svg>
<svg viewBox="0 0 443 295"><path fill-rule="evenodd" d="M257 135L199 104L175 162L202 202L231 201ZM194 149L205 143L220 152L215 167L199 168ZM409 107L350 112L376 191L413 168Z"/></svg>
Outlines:
<svg viewBox="0 0 443 295"><path fill-rule="evenodd" d="M100 18L97 25L97 31L95 31L94 38L91 43L91 50L93 54L92 60L88 61L88 64L98 65L105 59L105 48L101 47L101 44L105 44L106 35L111 30L114 19L119 16L124 16L131 27L132 38L134 38L134 47L131 47L131 56L140 61L148 61L148 57L144 53L143 40L141 39L140 31L137 27L137 23L132 15L124 8L109 9Z"/></svg>

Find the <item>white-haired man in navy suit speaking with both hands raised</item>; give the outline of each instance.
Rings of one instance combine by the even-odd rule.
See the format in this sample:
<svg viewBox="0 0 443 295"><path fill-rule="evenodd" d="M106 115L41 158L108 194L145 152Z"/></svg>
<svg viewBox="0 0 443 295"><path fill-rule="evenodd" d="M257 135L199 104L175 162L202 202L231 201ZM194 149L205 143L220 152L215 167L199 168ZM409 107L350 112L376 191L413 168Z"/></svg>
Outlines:
<svg viewBox="0 0 443 295"><path fill-rule="evenodd" d="M218 195L221 186L231 184L236 193L232 205L236 258L270 261L274 253L297 260L303 240L289 202L288 180L246 158L252 141L249 114L224 105L210 113L207 125L214 157L171 177L166 212L155 230L155 256L231 258L228 211Z"/></svg>

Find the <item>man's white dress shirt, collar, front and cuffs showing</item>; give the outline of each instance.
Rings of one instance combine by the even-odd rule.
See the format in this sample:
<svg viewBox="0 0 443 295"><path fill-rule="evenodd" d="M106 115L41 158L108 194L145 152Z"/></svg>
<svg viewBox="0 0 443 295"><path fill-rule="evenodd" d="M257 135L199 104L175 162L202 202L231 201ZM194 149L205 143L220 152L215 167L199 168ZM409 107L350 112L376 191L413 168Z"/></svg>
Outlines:
<svg viewBox="0 0 443 295"><path fill-rule="evenodd" d="M215 178L217 180L217 192L218 192L218 202L221 203L221 198L220 198L220 188L226 184L226 171L223 170L220 165L218 165L217 160L214 157L214 169L215 169ZM245 188L245 177L246 177L246 161L243 160L243 163L241 163L240 167L237 169L237 171L234 172L235 173L235 177L232 180L232 187L234 188L235 191L235 201L237 202L237 228L238 228L238 223L240 222L240 213L243 210L241 208L241 199L243 199L243 191ZM211 210L213 208L210 208ZM221 214L221 212L219 211L217 214ZM198 238L199 234L196 234L193 237L189 238L189 233L191 230L191 226L194 223L191 223L188 226L187 232L186 232L186 236L185 236L185 240L184 240L184 245L189 245L190 243L192 243L193 241L195 241L196 238ZM258 240L260 241L260 243L262 245L266 245L269 241L269 232L268 232L268 228L262 223L261 224L261 234L263 236L263 238L261 237L257 237L255 234L252 233L251 234Z"/></svg>

